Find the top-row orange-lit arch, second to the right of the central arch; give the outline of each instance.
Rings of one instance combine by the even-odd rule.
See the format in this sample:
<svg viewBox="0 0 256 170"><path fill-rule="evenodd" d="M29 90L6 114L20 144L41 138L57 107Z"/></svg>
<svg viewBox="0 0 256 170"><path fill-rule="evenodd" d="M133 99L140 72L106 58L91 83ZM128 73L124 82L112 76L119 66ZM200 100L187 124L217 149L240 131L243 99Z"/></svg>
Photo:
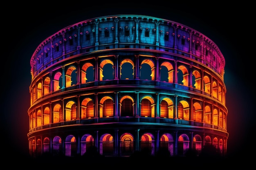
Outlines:
<svg viewBox="0 0 256 170"><path fill-rule="evenodd" d="M163 72L162 70L164 70L164 67L167 69L167 77L164 77L165 72ZM168 83L173 83L173 65L170 62L162 62L162 64L160 65L160 81L167 81Z"/></svg>

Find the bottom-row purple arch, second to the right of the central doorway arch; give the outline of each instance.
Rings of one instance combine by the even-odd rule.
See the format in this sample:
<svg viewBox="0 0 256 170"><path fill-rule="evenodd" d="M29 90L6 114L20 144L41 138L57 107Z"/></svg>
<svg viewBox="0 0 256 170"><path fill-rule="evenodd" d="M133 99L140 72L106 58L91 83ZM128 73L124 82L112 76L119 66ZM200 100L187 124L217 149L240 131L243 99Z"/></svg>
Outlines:
<svg viewBox="0 0 256 170"><path fill-rule="evenodd" d="M171 134L164 133L160 137L159 150L168 150L170 152L170 155L173 156L174 140Z"/></svg>

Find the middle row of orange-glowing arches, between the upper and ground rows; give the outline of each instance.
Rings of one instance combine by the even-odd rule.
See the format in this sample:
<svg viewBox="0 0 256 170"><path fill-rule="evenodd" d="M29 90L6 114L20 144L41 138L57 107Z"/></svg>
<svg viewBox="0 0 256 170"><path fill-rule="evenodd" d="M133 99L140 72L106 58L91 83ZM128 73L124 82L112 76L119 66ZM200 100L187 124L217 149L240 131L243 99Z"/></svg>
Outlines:
<svg viewBox="0 0 256 170"><path fill-rule="evenodd" d="M108 117L159 117L226 128L224 110L197 99L162 94L115 93L59 100L31 111L30 129L62 121Z"/></svg>

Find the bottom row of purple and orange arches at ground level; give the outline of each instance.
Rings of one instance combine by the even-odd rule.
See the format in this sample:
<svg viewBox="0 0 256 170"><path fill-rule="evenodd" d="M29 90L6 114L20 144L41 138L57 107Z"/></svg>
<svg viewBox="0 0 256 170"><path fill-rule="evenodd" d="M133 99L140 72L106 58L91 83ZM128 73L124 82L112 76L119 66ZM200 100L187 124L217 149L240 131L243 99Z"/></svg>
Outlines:
<svg viewBox="0 0 256 170"><path fill-rule="evenodd" d="M118 131L118 130L117 130ZM225 154L226 139L221 137L210 137L209 135L187 135L185 133L177 136L175 133L163 133L162 135L146 132L139 137L137 134L125 132L118 138L110 133L102 134L99 139L91 134L81 137L67 135L66 137L34 137L29 139L31 155L42 155L52 153L52 155L76 156L84 155L90 148L96 147L100 155L108 156L128 156L136 150L147 151L150 155L155 155L158 150L168 150L170 156L184 156L189 149L197 151L199 155L205 145L213 145L220 154ZM136 136L139 138L137 139ZM115 140L116 139L116 140ZM198 156L197 155L197 156Z"/></svg>

